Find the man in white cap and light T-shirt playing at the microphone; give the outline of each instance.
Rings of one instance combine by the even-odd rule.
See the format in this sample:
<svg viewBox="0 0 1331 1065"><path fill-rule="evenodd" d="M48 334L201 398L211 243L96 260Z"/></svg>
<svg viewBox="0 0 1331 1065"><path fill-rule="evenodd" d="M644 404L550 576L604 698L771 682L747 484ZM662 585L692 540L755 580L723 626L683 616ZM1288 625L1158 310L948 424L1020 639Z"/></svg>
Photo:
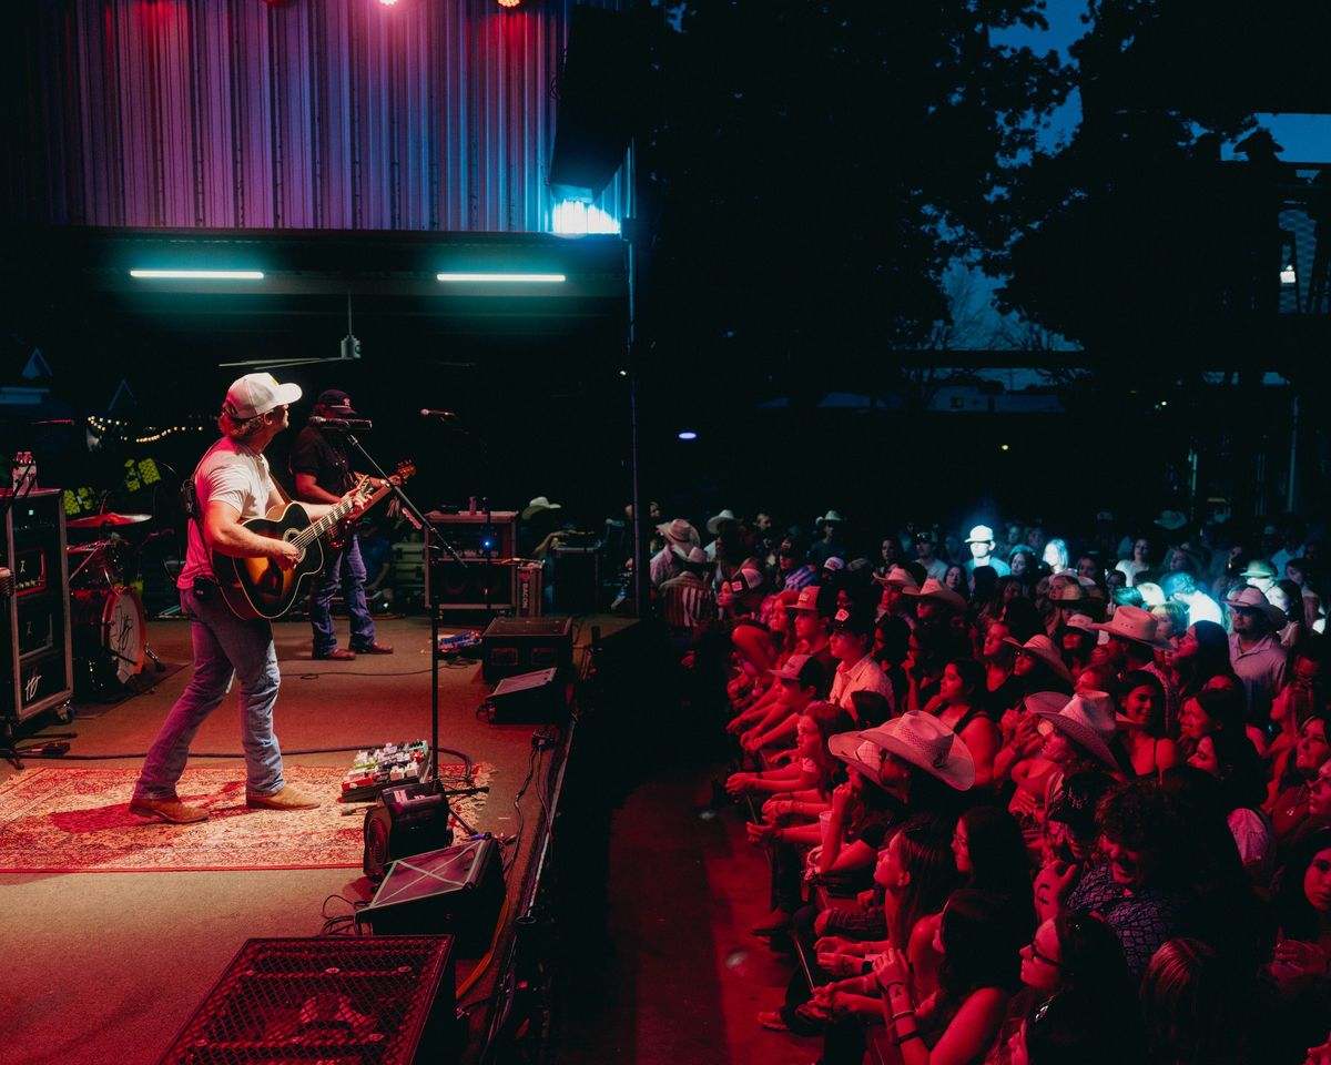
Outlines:
<svg viewBox="0 0 1331 1065"><path fill-rule="evenodd" d="M241 742L245 748L245 803L265 809L309 809L317 799L282 779L282 752L273 734L273 707L281 672L270 623L241 620L222 599L212 552L233 558L266 558L291 570L301 550L285 539L261 536L242 522L281 510L285 501L269 475L264 449L286 429L287 407L301 398L299 385L280 385L272 374L246 374L226 393L218 418L222 438L194 471L197 517L189 522L185 567L176 584L181 610L193 622L194 676L181 692L153 740L129 803L130 813L174 824L202 821L208 811L186 805L176 793L189 744L232 686L241 688ZM351 505L353 514L363 505ZM311 519L326 505L307 506Z"/></svg>

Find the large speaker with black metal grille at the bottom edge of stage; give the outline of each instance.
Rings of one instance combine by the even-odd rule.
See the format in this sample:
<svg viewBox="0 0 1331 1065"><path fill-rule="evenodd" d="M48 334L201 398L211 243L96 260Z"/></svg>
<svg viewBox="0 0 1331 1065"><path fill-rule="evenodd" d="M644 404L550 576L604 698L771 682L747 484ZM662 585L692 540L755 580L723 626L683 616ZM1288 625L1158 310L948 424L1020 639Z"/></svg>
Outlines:
<svg viewBox="0 0 1331 1065"><path fill-rule="evenodd" d="M162 1065L453 1061L451 936L246 940Z"/></svg>

